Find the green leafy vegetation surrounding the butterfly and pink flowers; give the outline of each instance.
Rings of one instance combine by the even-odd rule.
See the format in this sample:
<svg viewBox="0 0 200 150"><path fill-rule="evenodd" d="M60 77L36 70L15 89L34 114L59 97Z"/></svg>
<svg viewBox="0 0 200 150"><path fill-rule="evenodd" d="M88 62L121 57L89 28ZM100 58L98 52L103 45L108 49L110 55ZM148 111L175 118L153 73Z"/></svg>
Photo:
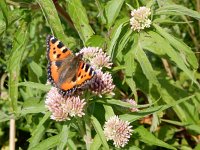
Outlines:
<svg viewBox="0 0 200 150"><path fill-rule="evenodd" d="M130 12L140 6L151 8L152 24L136 32ZM114 113L133 126L126 149L200 149L198 0L1 0L0 8L2 149L13 123L16 149L115 149L102 134ZM45 108L48 34L112 58L115 96L93 97L79 125L55 122ZM140 111L128 112L126 98ZM94 139L87 147L79 127Z"/></svg>

